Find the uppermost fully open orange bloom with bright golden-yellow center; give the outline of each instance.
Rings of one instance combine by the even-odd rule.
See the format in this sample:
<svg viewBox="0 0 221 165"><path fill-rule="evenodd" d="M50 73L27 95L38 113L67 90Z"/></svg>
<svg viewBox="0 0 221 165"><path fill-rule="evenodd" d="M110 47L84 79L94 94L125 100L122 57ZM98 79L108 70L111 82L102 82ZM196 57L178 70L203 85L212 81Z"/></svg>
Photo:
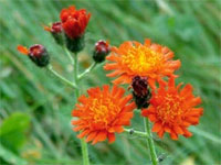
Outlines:
<svg viewBox="0 0 221 165"><path fill-rule="evenodd" d="M119 48L113 47L112 54L106 57L104 66L106 70L114 70L108 77L118 76L114 84L130 84L133 77L148 77L150 87L164 76L171 76L180 67L180 61L171 61L173 53L165 46L151 44L146 40L145 44L138 42L124 42Z"/></svg>

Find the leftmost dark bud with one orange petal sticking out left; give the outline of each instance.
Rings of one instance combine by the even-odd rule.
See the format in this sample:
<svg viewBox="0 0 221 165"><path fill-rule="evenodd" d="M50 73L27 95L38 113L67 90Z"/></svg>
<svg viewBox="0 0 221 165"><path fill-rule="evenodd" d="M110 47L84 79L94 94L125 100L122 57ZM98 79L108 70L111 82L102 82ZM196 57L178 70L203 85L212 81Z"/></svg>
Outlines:
<svg viewBox="0 0 221 165"><path fill-rule="evenodd" d="M20 53L28 55L30 59L40 67L46 66L50 62L50 56L43 45L35 44L32 45L30 48L19 45L17 50Z"/></svg>

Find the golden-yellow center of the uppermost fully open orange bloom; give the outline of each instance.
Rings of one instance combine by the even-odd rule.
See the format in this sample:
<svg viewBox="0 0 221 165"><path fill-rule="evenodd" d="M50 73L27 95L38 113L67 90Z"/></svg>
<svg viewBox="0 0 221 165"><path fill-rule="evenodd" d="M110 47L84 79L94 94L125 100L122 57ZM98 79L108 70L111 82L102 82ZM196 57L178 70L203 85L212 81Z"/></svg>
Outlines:
<svg viewBox="0 0 221 165"><path fill-rule="evenodd" d="M131 46L127 54L122 55L122 63L133 74L147 76L157 73L162 67L161 54L146 46Z"/></svg>

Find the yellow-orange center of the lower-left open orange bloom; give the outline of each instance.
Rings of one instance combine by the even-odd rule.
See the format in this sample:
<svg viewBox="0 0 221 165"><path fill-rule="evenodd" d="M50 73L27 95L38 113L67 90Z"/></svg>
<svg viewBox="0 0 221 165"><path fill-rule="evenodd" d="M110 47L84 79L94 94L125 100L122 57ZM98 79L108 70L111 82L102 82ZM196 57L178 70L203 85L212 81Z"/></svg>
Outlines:
<svg viewBox="0 0 221 165"><path fill-rule="evenodd" d="M105 98L101 95L99 98L94 98L92 100L90 117L93 123L106 128L108 123L116 118L119 111L118 105L116 105L112 98Z"/></svg>

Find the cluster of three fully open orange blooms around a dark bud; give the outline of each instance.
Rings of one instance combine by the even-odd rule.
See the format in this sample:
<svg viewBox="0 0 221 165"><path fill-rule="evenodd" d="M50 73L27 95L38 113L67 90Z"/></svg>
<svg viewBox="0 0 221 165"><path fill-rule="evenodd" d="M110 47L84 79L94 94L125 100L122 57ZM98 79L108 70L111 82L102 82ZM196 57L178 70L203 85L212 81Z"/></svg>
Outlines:
<svg viewBox="0 0 221 165"><path fill-rule="evenodd" d="M125 90L117 86L131 85L136 76L146 77L151 89L151 97L146 100L149 107L141 108L141 116L154 122L152 131L159 138L168 132L172 140L177 140L179 134L191 136L187 128L199 123L203 109L196 106L201 99L192 95L191 85L182 89L181 84L175 85L178 76L173 73L181 63L172 57L173 53L168 47L151 43L150 40L144 44L128 41L119 47L112 47L104 69L113 70L107 76L116 77L114 87L110 91L107 85L103 89L92 88L87 90L88 97L83 95L78 98L80 103L72 113L77 117L72 124L75 125L74 131L81 131L78 138L86 136L86 142L92 141L93 144L106 139L112 143L115 133L123 132L123 127L129 125L136 108L135 97L124 97Z"/></svg>

